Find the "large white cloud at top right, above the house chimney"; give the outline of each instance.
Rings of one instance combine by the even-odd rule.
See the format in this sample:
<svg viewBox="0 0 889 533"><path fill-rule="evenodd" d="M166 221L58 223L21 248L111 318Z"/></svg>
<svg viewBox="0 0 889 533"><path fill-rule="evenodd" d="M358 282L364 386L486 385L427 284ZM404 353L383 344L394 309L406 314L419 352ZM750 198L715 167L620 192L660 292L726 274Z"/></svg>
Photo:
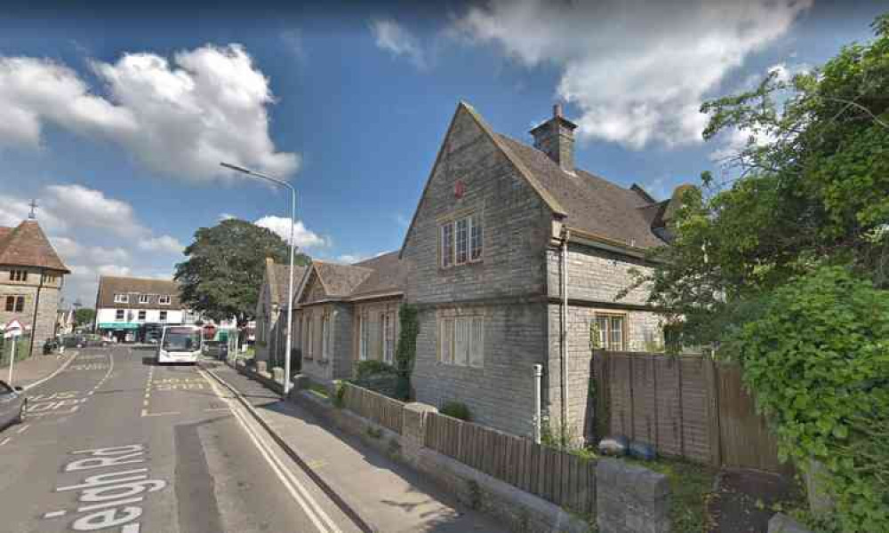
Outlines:
<svg viewBox="0 0 889 533"><path fill-rule="evenodd" d="M469 8L451 33L497 44L527 67L559 68L557 95L580 109L581 139L671 147L701 142L705 95L811 4L492 0Z"/></svg>

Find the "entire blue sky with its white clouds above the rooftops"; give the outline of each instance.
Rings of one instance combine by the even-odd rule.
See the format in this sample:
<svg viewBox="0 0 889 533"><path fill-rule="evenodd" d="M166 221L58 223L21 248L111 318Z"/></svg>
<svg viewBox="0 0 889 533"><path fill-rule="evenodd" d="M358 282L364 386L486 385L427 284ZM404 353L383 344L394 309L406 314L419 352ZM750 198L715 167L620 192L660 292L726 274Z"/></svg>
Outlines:
<svg viewBox="0 0 889 533"><path fill-rule="evenodd" d="M0 7L0 226L37 219L72 270L170 278L236 217L345 263L397 250L457 104L530 144L554 103L578 166L659 199L743 134L707 99L866 42L885 4L818 0L253 2ZM78 7L79 6L79 7ZM295 6L295 7L294 7ZM173 15L175 13L175 15Z"/></svg>

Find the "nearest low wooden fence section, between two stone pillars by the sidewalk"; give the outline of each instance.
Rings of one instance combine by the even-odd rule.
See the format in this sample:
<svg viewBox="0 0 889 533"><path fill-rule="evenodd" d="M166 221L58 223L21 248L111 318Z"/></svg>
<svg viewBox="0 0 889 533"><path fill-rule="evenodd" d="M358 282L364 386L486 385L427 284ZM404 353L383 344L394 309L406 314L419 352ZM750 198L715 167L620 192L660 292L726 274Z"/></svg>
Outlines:
<svg viewBox="0 0 889 533"><path fill-rule="evenodd" d="M595 461L445 415L426 420L427 448L576 513L595 512Z"/></svg>

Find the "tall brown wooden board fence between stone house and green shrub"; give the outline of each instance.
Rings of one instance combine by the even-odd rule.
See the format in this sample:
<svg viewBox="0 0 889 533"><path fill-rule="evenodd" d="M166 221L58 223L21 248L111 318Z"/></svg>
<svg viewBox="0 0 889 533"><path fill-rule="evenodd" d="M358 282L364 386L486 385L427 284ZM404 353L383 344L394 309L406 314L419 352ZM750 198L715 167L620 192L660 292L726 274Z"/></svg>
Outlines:
<svg viewBox="0 0 889 533"><path fill-rule="evenodd" d="M701 355L597 351L599 433L714 466L787 473L737 365Z"/></svg>

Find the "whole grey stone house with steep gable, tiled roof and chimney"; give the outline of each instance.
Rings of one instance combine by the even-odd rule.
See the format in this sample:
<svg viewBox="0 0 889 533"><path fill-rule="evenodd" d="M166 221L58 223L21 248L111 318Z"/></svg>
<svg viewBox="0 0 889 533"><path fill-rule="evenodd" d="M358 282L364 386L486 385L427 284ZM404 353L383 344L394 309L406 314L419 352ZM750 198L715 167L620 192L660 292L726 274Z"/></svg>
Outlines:
<svg viewBox="0 0 889 533"><path fill-rule="evenodd" d="M593 346L663 345L645 288L618 296L631 269L651 267L645 252L668 241L678 195L657 202L576 168L575 127L555 107L529 146L461 102L401 251L350 266L318 261L304 275L294 329L304 372L349 377L367 346L389 337L380 328L389 319L374 317L397 324L404 301L419 311L417 401L462 402L486 426L530 435L540 364L550 429L589 436ZM364 296L376 278L385 288Z"/></svg>

